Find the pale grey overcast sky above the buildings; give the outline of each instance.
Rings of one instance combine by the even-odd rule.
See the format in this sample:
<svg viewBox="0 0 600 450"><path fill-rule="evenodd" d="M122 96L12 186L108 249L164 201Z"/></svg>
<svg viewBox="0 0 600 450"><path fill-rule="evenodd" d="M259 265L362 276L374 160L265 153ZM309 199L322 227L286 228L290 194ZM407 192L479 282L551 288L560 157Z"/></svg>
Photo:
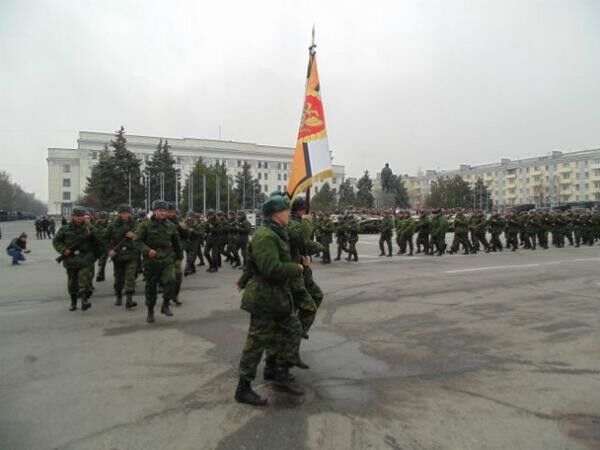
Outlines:
<svg viewBox="0 0 600 450"><path fill-rule="evenodd" d="M597 0L1 0L0 170L79 130L293 146L312 24L350 175L600 147Z"/></svg>

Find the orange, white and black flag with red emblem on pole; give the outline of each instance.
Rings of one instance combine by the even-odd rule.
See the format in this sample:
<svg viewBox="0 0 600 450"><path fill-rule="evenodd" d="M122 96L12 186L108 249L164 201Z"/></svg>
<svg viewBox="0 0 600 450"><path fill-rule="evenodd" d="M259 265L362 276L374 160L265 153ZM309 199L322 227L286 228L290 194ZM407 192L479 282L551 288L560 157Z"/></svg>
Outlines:
<svg viewBox="0 0 600 450"><path fill-rule="evenodd" d="M287 187L290 198L309 189L315 181L331 178L333 175L315 48L313 29L313 43L309 48L304 108Z"/></svg>

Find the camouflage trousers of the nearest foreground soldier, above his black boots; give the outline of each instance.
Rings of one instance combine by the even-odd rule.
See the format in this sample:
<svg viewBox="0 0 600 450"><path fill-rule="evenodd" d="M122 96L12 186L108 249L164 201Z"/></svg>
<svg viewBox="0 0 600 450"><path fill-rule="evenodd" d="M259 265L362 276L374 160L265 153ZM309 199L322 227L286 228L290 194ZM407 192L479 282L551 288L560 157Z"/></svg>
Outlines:
<svg viewBox="0 0 600 450"><path fill-rule="evenodd" d="M280 367L291 367L297 359L302 325L295 315L268 318L250 315L250 327L240 358L240 378L252 381L265 351Z"/></svg>

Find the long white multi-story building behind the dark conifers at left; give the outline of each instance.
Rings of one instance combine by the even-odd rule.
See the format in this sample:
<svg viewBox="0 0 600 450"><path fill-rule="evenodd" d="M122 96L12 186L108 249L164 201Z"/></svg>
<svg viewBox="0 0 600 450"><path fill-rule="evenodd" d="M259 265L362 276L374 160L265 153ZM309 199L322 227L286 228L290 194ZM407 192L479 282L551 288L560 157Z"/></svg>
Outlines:
<svg viewBox="0 0 600 450"><path fill-rule="evenodd" d="M126 135L128 150L142 161L142 169L150 161L160 139L164 137ZM77 148L48 149L48 210L51 214L70 214L77 198L83 195L92 167L100 152L114 139L112 133L80 131ZM245 162L252 176L258 179L262 192L284 191L287 187L294 155L293 147L277 147L250 142L214 139L167 138L175 158L176 168L185 180L199 158L208 164L225 164L228 175L234 177ZM338 189L344 181L344 166L333 166L333 178L315 185L318 192L324 182Z"/></svg>

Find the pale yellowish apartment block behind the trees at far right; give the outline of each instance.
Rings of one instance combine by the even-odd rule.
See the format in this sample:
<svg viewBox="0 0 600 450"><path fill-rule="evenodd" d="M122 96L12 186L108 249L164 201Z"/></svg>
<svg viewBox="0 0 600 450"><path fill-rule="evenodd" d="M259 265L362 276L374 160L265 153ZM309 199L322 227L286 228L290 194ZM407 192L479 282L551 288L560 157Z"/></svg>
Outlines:
<svg viewBox="0 0 600 450"><path fill-rule="evenodd" d="M498 208L600 201L600 149L593 149L554 151L546 156L502 159L499 163L480 166L462 164L458 170L427 170L414 177L404 176L413 207L425 204L433 181L456 175L471 186L481 178Z"/></svg>

